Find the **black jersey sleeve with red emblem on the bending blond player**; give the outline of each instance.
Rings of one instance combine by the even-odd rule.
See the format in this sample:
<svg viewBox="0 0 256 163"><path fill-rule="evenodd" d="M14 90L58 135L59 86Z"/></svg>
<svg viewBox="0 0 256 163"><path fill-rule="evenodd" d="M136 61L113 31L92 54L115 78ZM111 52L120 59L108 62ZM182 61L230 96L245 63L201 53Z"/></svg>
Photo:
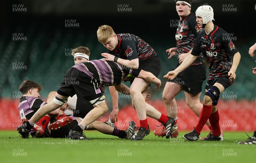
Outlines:
<svg viewBox="0 0 256 163"><path fill-rule="evenodd" d="M124 39L125 38L125 39ZM125 56L128 60L137 59L138 53L136 50L136 42L134 39L129 39L131 36L123 37L122 50L125 53Z"/></svg>

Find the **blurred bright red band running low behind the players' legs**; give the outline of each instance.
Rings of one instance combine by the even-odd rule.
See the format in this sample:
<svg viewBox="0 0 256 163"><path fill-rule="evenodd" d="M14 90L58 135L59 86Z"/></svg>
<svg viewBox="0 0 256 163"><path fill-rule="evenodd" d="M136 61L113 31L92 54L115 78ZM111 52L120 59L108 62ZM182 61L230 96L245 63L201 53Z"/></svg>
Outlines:
<svg viewBox="0 0 256 163"><path fill-rule="evenodd" d="M162 100L149 101L149 104L154 106L160 112L166 113ZM0 114L0 130L14 130L21 124L20 116L17 111L19 100L12 100L8 98L0 99L2 106L2 114ZM189 109L186 102L182 99L177 101L178 105L178 127L179 130L192 130L196 125L198 117ZM253 131L256 127L256 102L248 100L220 100L218 103L220 113L220 126L223 131ZM105 122L108 120L109 113L105 113L99 118L99 121ZM129 121L135 121L139 124L139 119L136 110L133 109L131 104L122 107L119 110L118 121L115 123L119 129L127 129ZM162 129L160 123L153 119L148 118L148 124L151 130ZM157 125L157 126L156 126ZM204 130L209 130L204 126Z"/></svg>

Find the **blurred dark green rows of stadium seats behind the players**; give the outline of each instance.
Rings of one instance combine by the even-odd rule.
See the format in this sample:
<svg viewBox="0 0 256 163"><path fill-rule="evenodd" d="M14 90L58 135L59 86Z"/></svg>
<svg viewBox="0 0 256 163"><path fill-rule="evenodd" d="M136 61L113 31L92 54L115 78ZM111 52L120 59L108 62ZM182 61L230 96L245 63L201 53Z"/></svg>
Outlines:
<svg viewBox="0 0 256 163"><path fill-rule="evenodd" d="M26 29L26 30L22 30ZM51 28L40 25L18 26L13 31L24 32L27 36L26 42L12 41L12 31L7 29L1 37L0 52L0 97L12 98L12 91L18 89L19 84L25 80L33 80L40 83L44 87L41 92L43 97L47 97L49 91L58 89L58 85L62 82L66 70L73 65L73 58L70 51L80 45L90 48L90 59L100 59L100 53L105 52L105 48L97 41L96 34L93 32L86 33L83 30L61 30L61 28ZM147 38L148 39L148 38ZM146 41L147 41L146 39ZM5 41L3 41L5 40ZM162 70L159 78L165 84L165 75L169 70L175 68L177 59L167 59L166 49L170 45L175 45L173 40L162 39L161 42L154 41L153 37L148 41L160 56ZM236 42L234 42L236 44ZM251 68L255 67L254 60L248 55L248 49L253 45L253 41L239 43L236 45L241 53L241 62L237 70L237 79L233 86L227 90L232 90L237 94L237 99L246 98L255 99L254 83L255 79ZM67 53L66 53L67 52ZM13 69L14 62L21 62L27 66L26 70ZM155 96L161 98L163 87L157 91ZM177 96L181 98L182 96Z"/></svg>

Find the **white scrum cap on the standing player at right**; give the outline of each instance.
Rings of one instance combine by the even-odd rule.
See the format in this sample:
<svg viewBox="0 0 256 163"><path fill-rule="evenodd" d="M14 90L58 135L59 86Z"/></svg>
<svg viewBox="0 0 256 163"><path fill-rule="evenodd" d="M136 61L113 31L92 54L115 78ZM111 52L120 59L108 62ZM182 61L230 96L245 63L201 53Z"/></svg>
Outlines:
<svg viewBox="0 0 256 163"><path fill-rule="evenodd" d="M203 18L203 24L207 24L207 22L211 22L212 20L214 20L213 9L209 5L199 6L198 9L195 11L195 14Z"/></svg>

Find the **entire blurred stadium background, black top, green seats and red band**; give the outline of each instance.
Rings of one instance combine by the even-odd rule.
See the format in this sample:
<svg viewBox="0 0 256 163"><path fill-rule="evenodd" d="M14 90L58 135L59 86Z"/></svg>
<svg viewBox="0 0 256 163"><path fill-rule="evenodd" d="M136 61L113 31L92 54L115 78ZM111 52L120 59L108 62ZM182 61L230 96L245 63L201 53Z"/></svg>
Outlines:
<svg viewBox="0 0 256 163"><path fill-rule="evenodd" d="M248 49L255 43L255 1L192 1L192 12L204 3L212 6L214 23L233 36L241 53L237 79L224 91L218 104L221 128L224 131L253 131L256 126L256 76L251 68L256 67L256 59L248 55ZM154 91L154 84L151 84L149 103L166 112L161 98L166 79L162 76L177 63L175 57L167 59L165 52L167 48L175 47L178 16L174 0L14 0L1 1L0 7L0 124L3 124L0 129L14 130L20 124L18 87L23 80L41 84L43 91L40 94L46 99L50 91L58 89L66 70L73 65L70 53L73 48L87 46L91 50L90 60L101 58L100 53L106 49L97 41L96 30L103 24L111 25L116 33L135 34L155 49L162 65L158 76L162 87ZM204 84L202 88L204 90ZM111 112L108 89L105 94L110 111L100 121L105 121ZM191 130L197 117L186 105L184 93L176 99L179 129ZM131 98L119 94L116 126L120 129L126 128L130 120L138 122L130 104ZM151 129L157 129L154 124L159 122L149 118L149 124Z"/></svg>

